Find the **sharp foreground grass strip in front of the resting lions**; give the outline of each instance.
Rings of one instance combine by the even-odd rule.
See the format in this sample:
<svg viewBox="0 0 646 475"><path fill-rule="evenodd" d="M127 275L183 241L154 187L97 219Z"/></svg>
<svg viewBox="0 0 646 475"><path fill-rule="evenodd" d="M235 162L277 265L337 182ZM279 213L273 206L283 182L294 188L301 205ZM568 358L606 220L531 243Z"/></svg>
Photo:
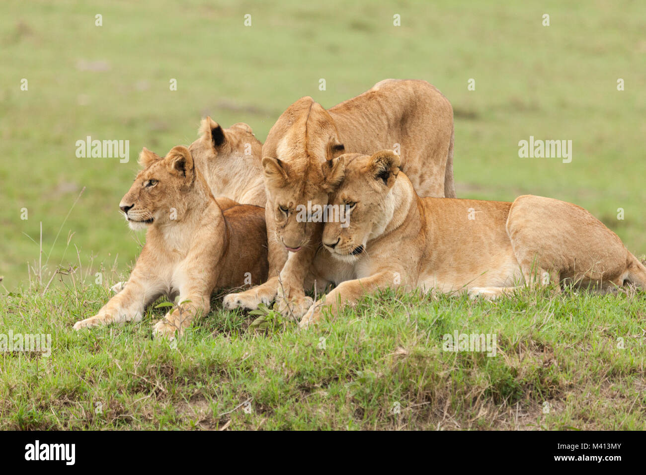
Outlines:
<svg viewBox="0 0 646 475"><path fill-rule="evenodd" d="M70 330L109 291L63 282L0 303L5 328L54 342L50 357L0 355L0 429L646 428L646 298L634 291L494 303L384 291L312 330L262 333L216 298L169 344L151 335L163 309ZM456 330L495 333L496 355L444 351Z"/></svg>

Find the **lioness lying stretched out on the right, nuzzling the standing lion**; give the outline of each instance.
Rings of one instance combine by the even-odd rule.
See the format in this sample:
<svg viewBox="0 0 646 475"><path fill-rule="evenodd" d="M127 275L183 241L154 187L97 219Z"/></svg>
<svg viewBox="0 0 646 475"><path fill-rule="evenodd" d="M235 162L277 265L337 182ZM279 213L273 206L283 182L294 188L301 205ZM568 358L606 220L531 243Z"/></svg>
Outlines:
<svg viewBox="0 0 646 475"><path fill-rule="evenodd" d="M331 202L349 226L328 222L308 281L340 283L311 306L307 326L377 288L467 291L495 299L521 284L601 291L630 282L646 288L646 268L585 209L541 196L513 203L420 198L392 151L346 155ZM329 259L331 255L337 264Z"/></svg>

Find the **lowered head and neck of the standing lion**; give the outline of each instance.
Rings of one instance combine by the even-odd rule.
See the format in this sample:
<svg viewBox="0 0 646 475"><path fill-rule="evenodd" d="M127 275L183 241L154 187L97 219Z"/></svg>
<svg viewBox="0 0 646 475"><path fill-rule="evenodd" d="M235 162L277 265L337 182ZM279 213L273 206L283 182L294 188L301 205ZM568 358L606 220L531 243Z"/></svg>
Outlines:
<svg viewBox="0 0 646 475"><path fill-rule="evenodd" d="M343 178L343 151L334 121L312 98L291 105L269 132L262 159L267 212L274 213L276 239L289 251L309 242L316 223L299 210L328 204Z"/></svg>

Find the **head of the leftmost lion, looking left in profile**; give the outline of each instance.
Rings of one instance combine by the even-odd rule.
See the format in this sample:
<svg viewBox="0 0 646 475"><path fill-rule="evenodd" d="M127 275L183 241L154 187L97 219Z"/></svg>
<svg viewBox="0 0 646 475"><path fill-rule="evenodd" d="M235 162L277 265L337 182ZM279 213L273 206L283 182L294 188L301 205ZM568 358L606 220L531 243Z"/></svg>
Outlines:
<svg viewBox="0 0 646 475"><path fill-rule="evenodd" d="M130 229L178 221L191 206L196 180L193 157L186 147L173 147L160 157L147 148L139 156L143 167L119 204Z"/></svg>

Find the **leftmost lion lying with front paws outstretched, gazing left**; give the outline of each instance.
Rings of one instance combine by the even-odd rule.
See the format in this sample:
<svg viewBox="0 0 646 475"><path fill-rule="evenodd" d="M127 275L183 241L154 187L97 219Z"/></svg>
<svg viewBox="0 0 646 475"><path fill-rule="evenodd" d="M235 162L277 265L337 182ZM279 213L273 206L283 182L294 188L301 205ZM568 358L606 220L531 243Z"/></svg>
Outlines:
<svg viewBox="0 0 646 475"><path fill-rule="evenodd" d="M163 158L143 149L140 164L119 207L130 228L147 227L146 244L123 290L75 330L140 321L161 295L179 295L180 306L153 327L172 338L209 312L214 290L267 278L264 209L213 198L186 147Z"/></svg>

